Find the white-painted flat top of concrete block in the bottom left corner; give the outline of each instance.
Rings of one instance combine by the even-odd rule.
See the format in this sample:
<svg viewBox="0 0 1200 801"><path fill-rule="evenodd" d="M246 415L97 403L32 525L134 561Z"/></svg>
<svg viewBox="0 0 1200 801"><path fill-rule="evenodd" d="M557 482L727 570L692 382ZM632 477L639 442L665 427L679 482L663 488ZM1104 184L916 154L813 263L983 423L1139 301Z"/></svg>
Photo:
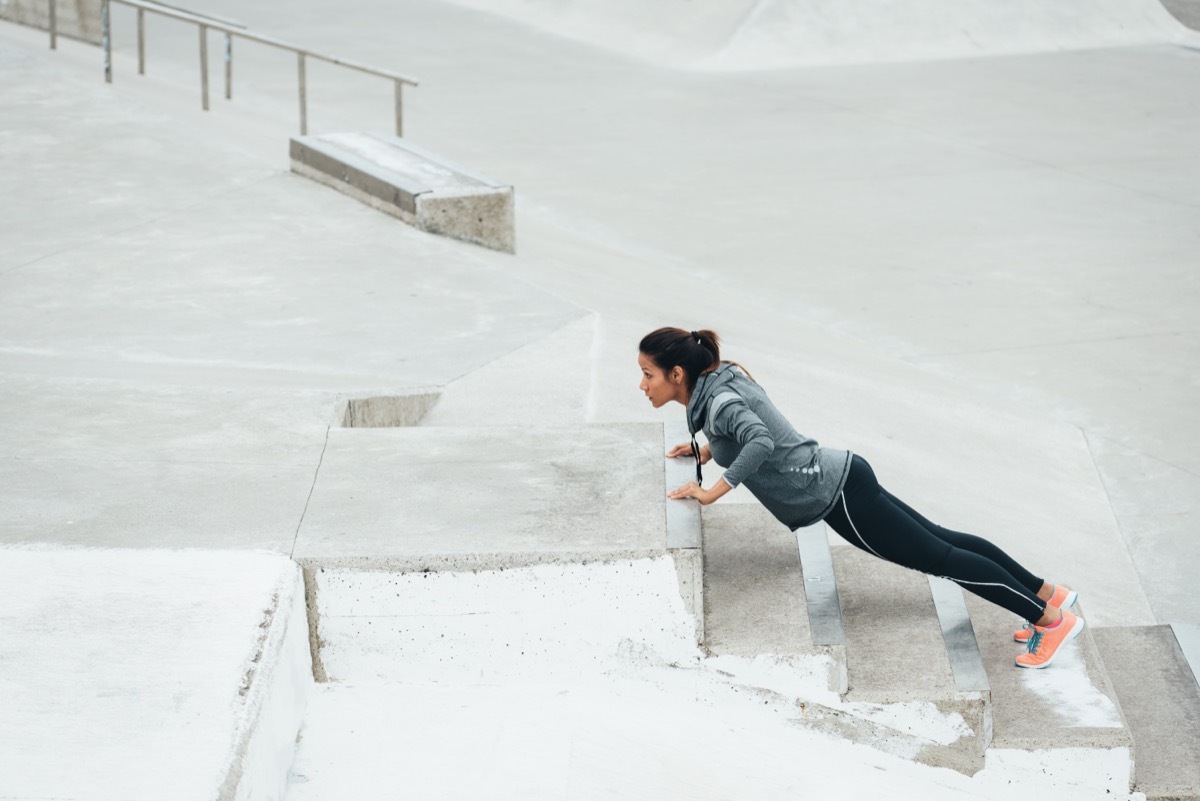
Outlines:
<svg viewBox="0 0 1200 801"><path fill-rule="evenodd" d="M286 673L296 578L268 553L0 547L5 797L211 801L244 766L258 782L241 735L258 728L254 675ZM299 700L269 704L287 709L257 747L295 737Z"/></svg>

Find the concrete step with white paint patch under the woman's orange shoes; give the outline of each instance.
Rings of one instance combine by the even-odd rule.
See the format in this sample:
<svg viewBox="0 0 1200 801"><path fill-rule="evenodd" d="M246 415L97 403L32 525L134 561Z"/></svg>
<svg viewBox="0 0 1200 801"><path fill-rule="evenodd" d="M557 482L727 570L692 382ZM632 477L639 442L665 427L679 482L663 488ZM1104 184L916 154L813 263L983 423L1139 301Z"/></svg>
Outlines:
<svg viewBox="0 0 1200 801"><path fill-rule="evenodd" d="M978 596L966 598L991 687L988 766L1073 771L1097 791L1128 794L1133 740L1092 630L1085 628L1050 668L1022 670L1013 663L1024 648L1013 642L1022 621ZM1086 620L1082 603L1075 612Z"/></svg>

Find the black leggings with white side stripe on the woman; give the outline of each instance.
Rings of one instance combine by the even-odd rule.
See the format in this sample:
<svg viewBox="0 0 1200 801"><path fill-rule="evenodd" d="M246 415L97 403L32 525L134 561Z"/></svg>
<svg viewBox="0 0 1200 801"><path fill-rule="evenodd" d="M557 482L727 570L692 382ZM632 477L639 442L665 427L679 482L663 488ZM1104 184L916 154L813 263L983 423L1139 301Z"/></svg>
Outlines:
<svg viewBox="0 0 1200 801"><path fill-rule="evenodd" d="M866 459L854 456L846 486L826 516L834 531L863 550L904 567L948 578L1037 622L1042 579L982 537L934 525L880 487Z"/></svg>

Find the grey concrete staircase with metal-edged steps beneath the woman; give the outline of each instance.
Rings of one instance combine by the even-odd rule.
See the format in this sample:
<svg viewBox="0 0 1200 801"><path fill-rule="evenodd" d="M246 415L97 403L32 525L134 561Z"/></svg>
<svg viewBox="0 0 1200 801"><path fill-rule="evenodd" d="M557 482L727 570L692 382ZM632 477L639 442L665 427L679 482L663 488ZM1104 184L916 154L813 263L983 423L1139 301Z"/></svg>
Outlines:
<svg viewBox="0 0 1200 801"><path fill-rule="evenodd" d="M823 531L806 542L809 548L829 544ZM967 775L989 769L1097 794L1198 797L1200 689L1169 626L1087 628L1052 668L1019 670L1013 657L1021 646L1012 632L1020 624L1012 614L949 585L965 596L970 614L972 649L956 654L964 650L954 642L959 633L943 636L947 601L935 600L944 590L931 592L931 583L941 579L836 541L829 548L836 580L832 597L845 645L817 645L806 624L828 610L810 606L802 552L757 506L719 504L703 511L707 649L839 661L828 689L840 703L799 704L797 719ZM1076 612L1086 619L1084 604ZM972 651L985 681L965 689L952 666L970 661ZM913 730L922 707L925 719L952 724L943 736L937 727ZM906 713L889 716L888 710Z"/></svg>

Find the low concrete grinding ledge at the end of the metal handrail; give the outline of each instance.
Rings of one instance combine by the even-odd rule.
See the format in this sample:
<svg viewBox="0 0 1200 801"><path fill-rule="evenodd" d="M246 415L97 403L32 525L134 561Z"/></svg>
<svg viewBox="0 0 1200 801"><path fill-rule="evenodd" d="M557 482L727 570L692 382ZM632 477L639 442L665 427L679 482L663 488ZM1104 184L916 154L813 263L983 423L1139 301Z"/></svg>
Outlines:
<svg viewBox="0 0 1200 801"><path fill-rule="evenodd" d="M514 253L512 187L398 137L335 133L290 140L293 171L431 234Z"/></svg>

